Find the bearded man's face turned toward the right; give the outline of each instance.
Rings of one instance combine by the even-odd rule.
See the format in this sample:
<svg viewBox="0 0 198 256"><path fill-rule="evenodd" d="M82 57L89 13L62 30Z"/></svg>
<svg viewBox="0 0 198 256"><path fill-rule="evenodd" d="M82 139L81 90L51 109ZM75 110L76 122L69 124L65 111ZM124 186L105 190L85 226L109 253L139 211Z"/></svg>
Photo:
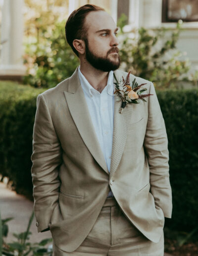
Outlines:
<svg viewBox="0 0 198 256"><path fill-rule="evenodd" d="M108 72L120 65L118 55L117 27L112 17L105 11L92 11L85 20L87 38L85 40L86 59L96 69Z"/></svg>

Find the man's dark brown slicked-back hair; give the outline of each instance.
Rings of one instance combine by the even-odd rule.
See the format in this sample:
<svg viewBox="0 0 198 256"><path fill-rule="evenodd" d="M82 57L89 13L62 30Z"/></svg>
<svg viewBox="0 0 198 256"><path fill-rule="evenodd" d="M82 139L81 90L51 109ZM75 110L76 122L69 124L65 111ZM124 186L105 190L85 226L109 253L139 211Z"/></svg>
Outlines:
<svg viewBox="0 0 198 256"><path fill-rule="evenodd" d="M78 51L73 46L75 39L85 40L87 39L87 27L85 26L85 18L91 11L104 11L103 8L94 4L85 4L80 8L74 10L66 24L65 24L65 36L68 44L71 46L73 52L79 57Z"/></svg>

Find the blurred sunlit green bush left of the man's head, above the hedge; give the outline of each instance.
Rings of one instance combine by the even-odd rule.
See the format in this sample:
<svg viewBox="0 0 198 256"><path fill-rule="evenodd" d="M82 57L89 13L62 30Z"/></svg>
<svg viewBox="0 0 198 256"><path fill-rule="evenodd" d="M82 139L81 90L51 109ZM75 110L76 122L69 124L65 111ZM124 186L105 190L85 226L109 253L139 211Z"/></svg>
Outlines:
<svg viewBox="0 0 198 256"><path fill-rule="evenodd" d="M64 25L64 22L56 23L50 36L46 35L46 28L41 27L45 40L26 44L24 64L28 74L23 79L25 84L51 88L74 72L79 60L66 42Z"/></svg>

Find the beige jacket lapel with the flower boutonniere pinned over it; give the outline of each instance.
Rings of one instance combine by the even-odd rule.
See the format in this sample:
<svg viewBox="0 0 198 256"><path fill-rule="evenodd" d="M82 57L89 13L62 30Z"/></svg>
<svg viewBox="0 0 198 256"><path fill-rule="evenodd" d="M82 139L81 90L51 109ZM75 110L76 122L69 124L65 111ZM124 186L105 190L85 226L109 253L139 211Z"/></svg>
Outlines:
<svg viewBox="0 0 198 256"><path fill-rule="evenodd" d="M115 70L114 73L119 82L120 78L122 77L122 73L119 70ZM110 178L113 176L120 163L133 111L133 104L127 104L122 114L120 114L120 107L121 101L116 101L114 99L113 143L111 153Z"/></svg>

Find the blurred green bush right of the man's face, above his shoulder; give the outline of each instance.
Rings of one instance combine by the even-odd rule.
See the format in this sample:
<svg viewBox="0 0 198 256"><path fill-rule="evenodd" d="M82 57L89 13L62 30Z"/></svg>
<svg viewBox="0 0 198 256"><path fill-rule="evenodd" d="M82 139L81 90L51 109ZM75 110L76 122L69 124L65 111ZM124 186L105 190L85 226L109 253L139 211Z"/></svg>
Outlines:
<svg viewBox="0 0 198 256"><path fill-rule="evenodd" d="M198 72L189 75L189 61L180 60L182 53L176 50L182 30L180 23L171 34L163 27L155 30L142 27L132 32L133 37L124 35L124 17L119 25L122 38L119 53L125 71L131 70L134 75L152 81L158 89L178 87L180 81L198 85Z"/></svg>

